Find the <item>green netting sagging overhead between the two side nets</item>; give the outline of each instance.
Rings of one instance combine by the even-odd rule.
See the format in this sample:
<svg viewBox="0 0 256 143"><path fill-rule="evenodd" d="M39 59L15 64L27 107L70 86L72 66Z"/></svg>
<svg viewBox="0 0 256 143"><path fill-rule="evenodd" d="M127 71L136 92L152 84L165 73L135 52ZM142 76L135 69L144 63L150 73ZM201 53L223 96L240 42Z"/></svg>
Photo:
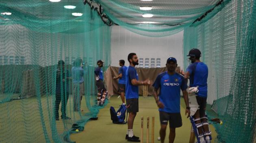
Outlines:
<svg viewBox="0 0 256 143"><path fill-rule="evenodd" d="M207 11L215 15L230 0L188 1L138 1L138 0L95 0L103 8L103 12L114 23L125 27L137 34L153 37L167 36L178 33L191 25ZM151 6L152 10L140 10L140 6ZM152 14L151 18L144 18L142 14ZM205 17L207 21L211 17Z"/></svg>

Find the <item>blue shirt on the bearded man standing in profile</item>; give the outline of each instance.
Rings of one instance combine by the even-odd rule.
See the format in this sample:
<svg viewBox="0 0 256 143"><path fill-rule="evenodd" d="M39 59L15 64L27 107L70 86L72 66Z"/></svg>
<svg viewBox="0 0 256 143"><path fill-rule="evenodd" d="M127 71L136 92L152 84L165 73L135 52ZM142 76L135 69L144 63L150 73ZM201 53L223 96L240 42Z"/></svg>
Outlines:
<svg viewBox="0 0 256 143"><path fill-rule="evenodd" d="M129 66L126 69L126 99L139 98L139 86L132 85L132 79L139 80L139 77L136 69L132 66Z"/></svg>

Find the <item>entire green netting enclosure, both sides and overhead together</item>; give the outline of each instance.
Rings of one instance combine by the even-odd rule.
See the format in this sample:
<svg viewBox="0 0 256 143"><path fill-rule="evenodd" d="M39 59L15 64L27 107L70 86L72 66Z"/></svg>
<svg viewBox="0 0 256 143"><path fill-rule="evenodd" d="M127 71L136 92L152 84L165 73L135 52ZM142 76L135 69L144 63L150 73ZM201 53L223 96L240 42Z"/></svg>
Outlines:
<svg viewBox="0 0 256 143"><path fill-rule="evenodd" d="M184 30L184 61L191 48L199 48L209 68L208 103L223 120L222 126L215 125L218 140L255 141L255 1L93 2L113 23L137 34L160 37ZM0 142L68 142L74 127L83 130L97 116L102 107L95 106L93 71L99 59L104 70L111 63L111 27L93 10L96 5L82 0L0 0ZM141 6L152 10L140 10ZM85 63L81 87L73 83L76 74L72 76L77 58ZM61 59L64 67L57 65ZM184 69L187 65L184 62ZM61 98L56 97L58 87ZM74 111L78 93L84 111ZM61 119L63 100L71 120Z"/></svg>

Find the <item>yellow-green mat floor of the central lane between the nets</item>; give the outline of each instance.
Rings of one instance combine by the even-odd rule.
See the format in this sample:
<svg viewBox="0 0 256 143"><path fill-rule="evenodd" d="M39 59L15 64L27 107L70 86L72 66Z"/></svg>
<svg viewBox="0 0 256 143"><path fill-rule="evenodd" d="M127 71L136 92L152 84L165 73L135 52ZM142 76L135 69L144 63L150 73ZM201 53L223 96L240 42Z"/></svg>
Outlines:
<svg viewBox="0 0 256 143"><path fill-rule="evenodd" d="M113 106L115 107L115 109L118 109L119 105L121 105L121 99L117 97L118 96L111 97L110 103L108 103L108 105L106 105L104 109L100 110L98 114L98 120L87 122L87 124L85 125L85 130L77 134L72 134L70 136L70 139L72 139L72 141L76 141L76 143L126 143L127 141L125 140L125 135L127 132L127 124L113 124L110 117L110 106ZM176 128L176 138L174 142L188 143L190 137L191 123L190 120L185 117L185 104L183 98L181 98L180 101L182 127ZM152 117L154 116L154 142L160 143L160 141L157 141L157 137L159 137L160 130L159 112L153 97L139 97L139 112L137 113L133 125L133 132L138 137L140 137L141 135L141 116L143 116L144 118L143 142L146 142L147 116L150 117L151 142L151 121ZM212 131L212 141L214 143L217 134L215 132L215 128L213 127L213 125L210 125L210 130ZM167 128L166 132L167 134L165 137L165 142L168 142L169 128Z"/></svg>

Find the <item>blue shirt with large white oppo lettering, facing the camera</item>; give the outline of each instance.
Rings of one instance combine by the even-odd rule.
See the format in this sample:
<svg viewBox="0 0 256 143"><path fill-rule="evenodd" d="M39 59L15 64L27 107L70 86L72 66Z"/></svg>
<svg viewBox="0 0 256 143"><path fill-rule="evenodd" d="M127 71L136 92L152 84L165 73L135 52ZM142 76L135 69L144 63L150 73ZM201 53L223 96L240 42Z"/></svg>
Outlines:
<svg viewBox="0 0 256 143"><path fill-rule="evenodd" d="M180 89L187 89L184 77L177 73L169 75L165 71L157 76L153 86L160 88L159 101L164 104L164 108L159 108L159 111L180 113Z"/></svg>

